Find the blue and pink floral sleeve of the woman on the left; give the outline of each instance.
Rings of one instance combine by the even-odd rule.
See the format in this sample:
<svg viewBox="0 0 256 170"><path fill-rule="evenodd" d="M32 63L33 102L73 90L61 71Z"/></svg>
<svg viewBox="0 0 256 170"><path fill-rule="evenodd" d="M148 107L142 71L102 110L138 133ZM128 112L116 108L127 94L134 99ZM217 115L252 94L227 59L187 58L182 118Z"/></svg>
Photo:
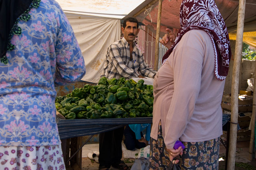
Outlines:
<svg viewBox="0 0 256 170"><path fill-rule="evenodd" d="M85 74L84 57L76 40L73 29L64 12L60 9L55 55L56 72L54 83L56 86L80 80Z"/></svg>

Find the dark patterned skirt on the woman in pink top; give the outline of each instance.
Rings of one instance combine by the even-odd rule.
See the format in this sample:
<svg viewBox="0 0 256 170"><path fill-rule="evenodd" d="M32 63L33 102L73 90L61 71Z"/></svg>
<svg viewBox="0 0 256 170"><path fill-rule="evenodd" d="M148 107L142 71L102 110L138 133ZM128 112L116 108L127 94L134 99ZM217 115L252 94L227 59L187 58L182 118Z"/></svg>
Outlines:
<svg viewBox="0 0 256 170"><path fill-rule="evenodd" d="M220 137L203 142L183 142L182 156L176 158L181 170L219 169ZM158 124L157 140L151 138L149 170L167 170L173 166L166 151L161 121Z"/></svg>

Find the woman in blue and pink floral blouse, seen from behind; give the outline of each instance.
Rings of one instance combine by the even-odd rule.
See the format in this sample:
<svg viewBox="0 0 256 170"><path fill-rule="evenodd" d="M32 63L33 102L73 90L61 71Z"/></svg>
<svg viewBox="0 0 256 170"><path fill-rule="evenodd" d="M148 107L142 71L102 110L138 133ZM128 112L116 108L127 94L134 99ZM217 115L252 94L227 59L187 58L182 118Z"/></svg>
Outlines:
<svg viewBox="0 0 256 170"><path fill-rule="evenodd" d="M84 59L54 0L0 0L1 169L65 169L55 86L80 80Z"/></svg>

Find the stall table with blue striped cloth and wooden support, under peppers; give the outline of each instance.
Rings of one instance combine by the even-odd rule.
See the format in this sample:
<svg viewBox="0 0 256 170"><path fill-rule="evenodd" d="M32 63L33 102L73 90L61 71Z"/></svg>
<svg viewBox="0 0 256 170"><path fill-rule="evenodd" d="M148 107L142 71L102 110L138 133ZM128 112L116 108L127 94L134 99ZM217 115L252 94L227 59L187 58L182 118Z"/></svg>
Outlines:
<svg viewBox="0 0 256 170"><path fill-rule="evenodd" d="M82 147L93 135L124 127L128 124L152 123L152 119L152 117L138 117L62 120L57 117L56 122L66 167L82 169ZM82 144L82 136L87 135L91 136Z"/></svg>

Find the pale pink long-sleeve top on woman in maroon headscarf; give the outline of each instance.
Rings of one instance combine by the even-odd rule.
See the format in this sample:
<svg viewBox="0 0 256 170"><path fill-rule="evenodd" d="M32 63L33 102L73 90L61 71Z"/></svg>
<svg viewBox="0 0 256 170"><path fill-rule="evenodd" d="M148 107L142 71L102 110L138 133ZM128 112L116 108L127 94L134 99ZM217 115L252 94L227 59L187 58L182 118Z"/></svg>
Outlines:
<svg viewBox="0 0 256 170"><path fill-rule="evenodd" d="M214 76L215 48L203 30L185 33L154 80L153 125L161 120L164 143L201 142L222 135L220 107L225 81Z"/></svg>

